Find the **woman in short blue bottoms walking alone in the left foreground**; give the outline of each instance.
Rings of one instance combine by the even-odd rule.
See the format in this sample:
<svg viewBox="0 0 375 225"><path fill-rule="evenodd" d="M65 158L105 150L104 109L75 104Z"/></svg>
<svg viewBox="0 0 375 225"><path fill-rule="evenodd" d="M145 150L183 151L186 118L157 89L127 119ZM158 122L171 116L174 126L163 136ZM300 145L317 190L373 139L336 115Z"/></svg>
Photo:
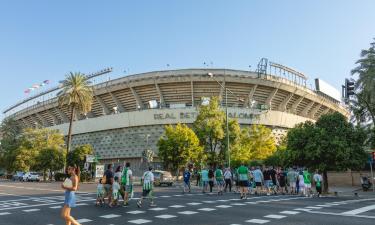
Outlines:
<svg viewBox="0 0 375 225"><path fill-rule="evenodd" d="M80 225L71 215L71 209L76 206L75 193L78 190L79 184L79 167L76 165L70 165L67 168L69 178L66 178L64 183L61 185L62 189L65 190L64 207L61 210L61 217L65 220L66 224Z"/></svg>

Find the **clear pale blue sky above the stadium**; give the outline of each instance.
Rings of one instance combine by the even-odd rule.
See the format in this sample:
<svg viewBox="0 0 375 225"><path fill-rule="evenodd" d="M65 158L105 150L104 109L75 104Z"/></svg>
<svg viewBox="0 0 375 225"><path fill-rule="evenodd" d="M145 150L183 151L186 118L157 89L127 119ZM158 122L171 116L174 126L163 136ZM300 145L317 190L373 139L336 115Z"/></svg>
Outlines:
<svg viewBox="0 0 375 225"><path fill-rule="evenodd" d="M262 57L339 89L375 38L374 9L374 0L2 0L0 109L70 71L254 70Z"/></svg>

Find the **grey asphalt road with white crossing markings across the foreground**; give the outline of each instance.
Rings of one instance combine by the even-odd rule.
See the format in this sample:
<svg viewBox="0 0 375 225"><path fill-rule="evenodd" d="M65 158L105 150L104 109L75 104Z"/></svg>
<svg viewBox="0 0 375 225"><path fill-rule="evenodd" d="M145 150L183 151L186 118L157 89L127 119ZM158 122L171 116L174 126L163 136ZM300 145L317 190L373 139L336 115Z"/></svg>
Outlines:
<svg viewBox="0 0 375 225"><path fill-rule="evenodd" d="M60 225L64 201L59 183L0 182L1 225ZM235 224L375 224L375 195L365 198L297 196L251 196L239 200L238 194L224 196L181 194L178 187L156 189L156 207L147 201L138 209L97 207L95 185L82 185L72 215L84 225L235 225ZM139 190L139 189L137 189ZM139 197L136 193L135 198Z"/></svg>

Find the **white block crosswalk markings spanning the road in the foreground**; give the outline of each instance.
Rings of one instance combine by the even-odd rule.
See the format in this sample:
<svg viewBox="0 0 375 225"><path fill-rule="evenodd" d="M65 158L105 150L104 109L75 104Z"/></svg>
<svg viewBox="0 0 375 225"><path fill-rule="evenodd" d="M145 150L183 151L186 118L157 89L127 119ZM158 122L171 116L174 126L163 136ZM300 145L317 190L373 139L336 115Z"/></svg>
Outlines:
<svg viewBox="0 0 375 225"><path fill-rule="evenodd" d="M189 194L189 195L161 195L156 197L157 207L144 207L138 209L133 204L131 207L123 208L117 207L114 209L107 209L95 207L93 205L94 198L92 195L77 196L77 208L74 212L77 213L77 218L81 224L165 224L162 221L169 221L170 224L180 224L178 221L186 218L201 218L215 215L223 215L225 213L235 212L238 209L244 209L252 212L256 208L265 208L269 205L281 204L283 208L275 211L265 210L263 215L254 213L247 215L244 213L238 218L236 223L227 223L227 225L243 225L243 224L268 224L275 221L285 220L291 217L299 216L301 214L331 214L332 216L343 215L347 217L361 217L361 218L375 218L375 198L370 199L349 199L342 201L332 201L331 199L322 199L315 201L312 204L310 198L298 196L254 196L247 200L240 200L233 198L232 195L227 195L227 199L219 199L218 196ZM232 198L230 198L232 197ZM221 197L222 198L222 197ZM19 199L17 201L10 201L10 203L0 202L0 221L2 218L12 215L19 215L19 213L26 214L43 214L46 210L48 213L59 214L61 209L61 201L63 196L47 196L35 199ZM42 200L47 200L43 203ZM56 202L58 205L56 205ZM324 201L324 202L323 202ZM292 202L295 205L286 204ZM310 202L309 204L305 204ZM1 204L3 203L3 204ZM22 203L22 204L20 204ZM33 203L34 205L32 205ZM343 209L338 212L340 206L350 206L352 204L361 204L361 207L356 205L356 208ZM366 204L363 206L362 204ZM293 207L294 206L294 207ZM296 207L297 206L297 207ZM334 212L329 212L329 209L335 209ZM21 211L20 211L21 210ZM52 210L52 212L51 212ZM328 211L327 211L328 210ZM88 213L93 211L93 213ZM91 214L80 217L80 213ZM364 215L370 212L371 215ZM44 224L58 225L62 224L47 221ZM0 222L1 224L1 222ZM199 224L199 223L195 223Z"/></svg>

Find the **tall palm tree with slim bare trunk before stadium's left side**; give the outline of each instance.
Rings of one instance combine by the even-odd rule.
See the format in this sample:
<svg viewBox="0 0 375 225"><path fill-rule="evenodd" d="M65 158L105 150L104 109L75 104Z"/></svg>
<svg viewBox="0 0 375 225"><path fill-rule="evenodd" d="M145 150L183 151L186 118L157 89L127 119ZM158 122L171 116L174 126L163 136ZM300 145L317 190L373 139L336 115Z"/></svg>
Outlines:
<svg viewBox="0 0 375 225"><path fill-rule="evenodd" d="M80 72L70 72L66 75L62 87L63 90L59 93L59 106L68 106L70 108L69 131L66 143L66 156L68 156L75 114L86 114L91 111L94 91L91 82Z"/></svg>

